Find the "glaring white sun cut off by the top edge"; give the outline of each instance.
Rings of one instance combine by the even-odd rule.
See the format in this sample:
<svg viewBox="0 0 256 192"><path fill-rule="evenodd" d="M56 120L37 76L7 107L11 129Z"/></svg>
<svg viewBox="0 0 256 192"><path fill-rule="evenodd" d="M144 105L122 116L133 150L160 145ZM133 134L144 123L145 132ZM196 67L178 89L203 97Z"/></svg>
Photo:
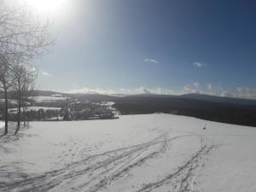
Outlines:
<svg viewBox="0 0 256 192"><path fill-rule="evenodd" d="M23 0L43 15L58 15L67 8L68 0Z"/></svg>

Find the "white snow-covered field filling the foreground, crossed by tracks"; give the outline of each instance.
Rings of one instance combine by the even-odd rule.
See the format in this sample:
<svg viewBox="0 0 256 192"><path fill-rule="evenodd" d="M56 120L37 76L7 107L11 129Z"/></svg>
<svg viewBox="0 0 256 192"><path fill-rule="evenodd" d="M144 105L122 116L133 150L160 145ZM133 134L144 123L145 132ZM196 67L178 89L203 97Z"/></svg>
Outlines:
<svg viewBox="0 0 256 192"><path fill-rule="evenodd" d="M255 192L255 178L255 128L171 114L32 122L0 138L0 191Z"/></svg>

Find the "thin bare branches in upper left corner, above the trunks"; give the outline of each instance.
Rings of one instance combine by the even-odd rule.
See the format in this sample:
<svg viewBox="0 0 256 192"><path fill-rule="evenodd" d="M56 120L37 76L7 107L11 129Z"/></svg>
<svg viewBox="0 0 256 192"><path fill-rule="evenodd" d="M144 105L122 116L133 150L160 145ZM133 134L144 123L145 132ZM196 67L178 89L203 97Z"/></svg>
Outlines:
<svg viewBox="0 0 256 192"><path fill-rule="evenodd" d="M22 61L44 55L55 39L49 26L49 20L40 20L26 4L10 6L0 0L0 53L19 55Z"/></svg>

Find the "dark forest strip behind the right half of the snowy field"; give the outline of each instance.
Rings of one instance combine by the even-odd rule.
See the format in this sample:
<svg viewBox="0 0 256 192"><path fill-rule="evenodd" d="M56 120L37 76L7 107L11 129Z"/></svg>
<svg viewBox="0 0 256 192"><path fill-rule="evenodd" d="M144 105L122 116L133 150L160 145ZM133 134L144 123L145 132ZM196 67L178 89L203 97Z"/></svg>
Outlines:
<svg viewBox="0 0 256 192"><path fill-rule="evenodd" d="M183 98L127 96L113 105L122 114L176 113L236 125L256 126L256 106Z"/></svg>

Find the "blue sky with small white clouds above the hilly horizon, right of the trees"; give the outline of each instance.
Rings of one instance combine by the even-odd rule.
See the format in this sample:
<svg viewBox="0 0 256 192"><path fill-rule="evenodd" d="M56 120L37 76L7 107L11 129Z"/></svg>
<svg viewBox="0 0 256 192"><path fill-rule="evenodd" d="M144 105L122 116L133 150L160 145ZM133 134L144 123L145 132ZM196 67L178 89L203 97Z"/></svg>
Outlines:
<svg viewBox="0 0 256 192"><path fill-rule="evenodd" d="M38 89L256 99L256 1L67 1Z"/></svg>

